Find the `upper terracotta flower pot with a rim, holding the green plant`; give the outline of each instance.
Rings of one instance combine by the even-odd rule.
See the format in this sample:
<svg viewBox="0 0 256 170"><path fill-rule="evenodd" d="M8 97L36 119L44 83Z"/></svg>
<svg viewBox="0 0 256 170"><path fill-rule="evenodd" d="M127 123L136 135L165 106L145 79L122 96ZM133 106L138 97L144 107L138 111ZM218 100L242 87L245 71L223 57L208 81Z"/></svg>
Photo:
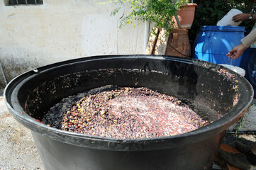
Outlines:
<svg viewBox="0 0 256 170"><path fill-rule="evenodd" d="M192 23L194 21L194 12L197 4L190 3L186 5L182 5L177 11L177 15L179 18L179 23L182 26L182 29L190 29ZM177 21L174 18L174 28L179 28Z"/></svg>

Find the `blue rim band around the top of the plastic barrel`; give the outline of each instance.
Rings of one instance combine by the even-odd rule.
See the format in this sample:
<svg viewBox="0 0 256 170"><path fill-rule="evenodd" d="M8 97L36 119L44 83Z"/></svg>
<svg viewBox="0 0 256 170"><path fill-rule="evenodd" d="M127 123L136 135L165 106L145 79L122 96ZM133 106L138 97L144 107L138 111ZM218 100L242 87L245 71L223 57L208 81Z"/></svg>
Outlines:
<svg viewBox="0 0 256 170"><path fill-rule="evenodd" d="M210 31L243 31L245 32L245 27L243 26L201 26L200 30L210 30Z"/></svg>

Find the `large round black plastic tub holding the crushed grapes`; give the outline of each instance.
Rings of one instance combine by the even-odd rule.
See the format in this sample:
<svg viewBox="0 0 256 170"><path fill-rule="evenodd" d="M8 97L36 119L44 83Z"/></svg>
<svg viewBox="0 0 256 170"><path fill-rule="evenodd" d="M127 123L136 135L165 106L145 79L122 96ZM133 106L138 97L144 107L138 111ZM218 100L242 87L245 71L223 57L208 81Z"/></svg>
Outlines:
<svg viewBox="0 0 256 170"><path fill-rule="evenodd" d="M211 169L226 129L253 98L247 80L230 70L220 73L223 68L181 57L85 57L16 77L6 86L4 99L13 117L31 130L45 169ZM36 121L62 98L108 84L145 86L175 96L213 123L182 135L116 140L57 130Z"/></svg>

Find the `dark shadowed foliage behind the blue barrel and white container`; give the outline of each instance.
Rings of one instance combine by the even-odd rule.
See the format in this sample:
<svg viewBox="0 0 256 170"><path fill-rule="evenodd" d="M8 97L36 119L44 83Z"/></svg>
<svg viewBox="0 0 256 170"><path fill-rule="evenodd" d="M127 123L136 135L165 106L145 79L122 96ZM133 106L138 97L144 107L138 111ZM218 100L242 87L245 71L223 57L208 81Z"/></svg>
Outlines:
<svg viewBox="0 0 256 170"><path fill-rule="evenodd" d="M252 0L194 0L198 5L195 11L195 17L191 30L189 30L189 39L194 40L201 26L216 26L218 20L230 11L231 8L237 8L243 13L250 13L252 10ZM254 25L252 21L243 21L240 26L245 29L251 29Z"/></svg>

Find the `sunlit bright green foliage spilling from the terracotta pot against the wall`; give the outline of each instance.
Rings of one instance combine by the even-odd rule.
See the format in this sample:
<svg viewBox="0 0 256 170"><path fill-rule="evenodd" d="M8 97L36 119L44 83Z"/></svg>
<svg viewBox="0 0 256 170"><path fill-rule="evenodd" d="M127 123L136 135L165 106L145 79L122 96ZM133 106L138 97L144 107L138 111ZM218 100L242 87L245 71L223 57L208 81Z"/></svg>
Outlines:
<svg viewBox="0 0 256 170"><path fill-rule="evenodd" d="M118 0L115 4L126 3L130 5L130 13L121 19L120 27L133 23L134 20L155 23L155 28L165 28L168 34L173 29L172 17L182 4L188 0ZM116 15L120 7L112 11ZM153 29L155 30L155 29Z"/></svg>

